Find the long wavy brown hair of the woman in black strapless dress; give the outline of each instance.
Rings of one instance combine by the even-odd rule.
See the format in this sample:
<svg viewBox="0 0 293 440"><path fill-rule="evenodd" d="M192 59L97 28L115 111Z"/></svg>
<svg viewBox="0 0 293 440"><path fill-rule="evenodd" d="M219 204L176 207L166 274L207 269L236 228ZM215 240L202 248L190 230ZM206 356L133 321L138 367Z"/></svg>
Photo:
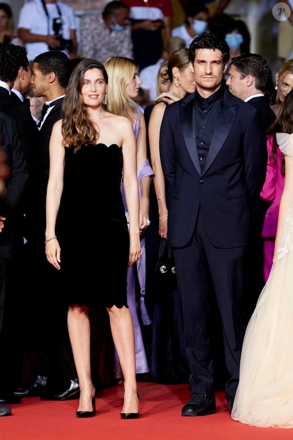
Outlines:
<svg viewBox="0 0 293 440"><path fill-rule="evenodd" d="M88 117L81 94L84 74L90 69L101 70L108 84L108 75L104 65L90 58L84 59L71 73L62 103L62 136L66 145L74 145L74 151L82 146L95 145L100 136L99 129L96 130ZM104 107L106 109L106 106Z"/></svg>

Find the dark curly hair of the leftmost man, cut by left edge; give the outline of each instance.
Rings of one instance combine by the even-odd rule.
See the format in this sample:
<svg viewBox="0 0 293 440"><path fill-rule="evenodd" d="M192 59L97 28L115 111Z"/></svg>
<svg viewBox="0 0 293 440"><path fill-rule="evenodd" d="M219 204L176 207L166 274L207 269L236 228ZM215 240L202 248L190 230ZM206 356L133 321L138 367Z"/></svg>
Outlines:
<svg viewBox="0 0 293 440"><path fill-rule="evenodd" d="M11 43L0 43L0 81L14 81L20 68L15 46Z"/></svg>

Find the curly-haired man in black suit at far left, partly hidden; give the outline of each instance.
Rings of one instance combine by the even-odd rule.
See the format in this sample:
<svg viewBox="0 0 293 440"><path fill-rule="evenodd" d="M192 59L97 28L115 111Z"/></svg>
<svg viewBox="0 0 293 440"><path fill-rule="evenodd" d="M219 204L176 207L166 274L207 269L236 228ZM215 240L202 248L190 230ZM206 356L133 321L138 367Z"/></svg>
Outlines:
<svg viewBox="0 0 293 440"><path fill-rule="evenodd" d="M22 56L20 56L20 50ZM31 117L30 109L20 99L11 96L21 70L21 65L28 63L24 48L12 44L0 44L0 110L11 116L16 124L16 131L24 153L26 168L31 167L31 158L37 143L38 130ZM28 75L27 75L28 76ZM2 331L1 347L3 362L0 366L0 386L8 386L11 381L21 375L22 351L24 349L24 332L21 321L25 315L25 282L26 273L23 271L23 215L25 213L25 194L17 204L17 213L13 219L13 255L9 262L10 282L6 284L5 323ZM9 222L11 225L11 221ZM17 274L17 276L15 276ZM7 275L8 277L8 275ZM12 385L12 384L11 384Z"/></svg>

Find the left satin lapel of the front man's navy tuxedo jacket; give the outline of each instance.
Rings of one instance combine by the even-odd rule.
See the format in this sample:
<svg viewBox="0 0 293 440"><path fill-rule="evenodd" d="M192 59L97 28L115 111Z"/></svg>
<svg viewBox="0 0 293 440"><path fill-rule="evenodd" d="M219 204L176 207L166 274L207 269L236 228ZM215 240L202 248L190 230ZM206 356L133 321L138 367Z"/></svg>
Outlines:
<svg viewBox="0 0 293 440"><path fill-rule="evenodd" d="M196 130L194 127L194 101L189 101L186 105L181 104L180 109L181 127L183 132L184 141L187 150L190 154L191 160L196 167L199 175L202 174L199 154L196 141Z"/></svg>

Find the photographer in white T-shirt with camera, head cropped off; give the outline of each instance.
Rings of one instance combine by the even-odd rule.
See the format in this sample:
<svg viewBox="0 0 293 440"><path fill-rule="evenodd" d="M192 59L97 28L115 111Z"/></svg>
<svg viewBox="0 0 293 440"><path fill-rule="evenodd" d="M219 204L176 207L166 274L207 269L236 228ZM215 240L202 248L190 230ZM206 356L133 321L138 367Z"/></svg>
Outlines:
<svg viewBox="0 0 293 440"><path fill-rule="evenodd" d="M50 50L76 56L76 26L73 9L59 0L30 0L20 10L18 35L24 41L29 61Z"/></svg>

